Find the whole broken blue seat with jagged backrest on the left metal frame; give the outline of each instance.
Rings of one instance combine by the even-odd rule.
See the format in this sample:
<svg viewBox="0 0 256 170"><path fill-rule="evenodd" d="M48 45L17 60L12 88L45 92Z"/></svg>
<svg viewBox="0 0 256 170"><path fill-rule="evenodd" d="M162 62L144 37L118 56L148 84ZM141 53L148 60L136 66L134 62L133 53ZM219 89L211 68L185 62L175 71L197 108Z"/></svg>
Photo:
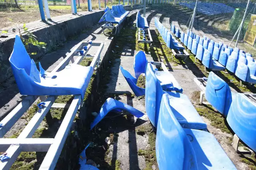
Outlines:
<svg viewBox="0 0 256 170"><path fill-rule="evenodd" d="M9 58L21 95L82 95L93 73L91 66L69 64L63 70L48 73L39 63L38 71L19 36L16 36Z"/></svg>

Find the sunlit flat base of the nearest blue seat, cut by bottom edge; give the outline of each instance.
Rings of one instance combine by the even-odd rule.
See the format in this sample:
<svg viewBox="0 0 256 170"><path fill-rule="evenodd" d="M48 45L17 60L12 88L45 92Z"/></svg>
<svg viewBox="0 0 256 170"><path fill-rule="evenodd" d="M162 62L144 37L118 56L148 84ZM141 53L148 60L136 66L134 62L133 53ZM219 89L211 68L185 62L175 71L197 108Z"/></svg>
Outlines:
<svg viewBox="0 0 256 170"><path fill-rule="evenodd" d="M198 170L236 170L216 138L202 130L184 129L190 140Z"/></svg>

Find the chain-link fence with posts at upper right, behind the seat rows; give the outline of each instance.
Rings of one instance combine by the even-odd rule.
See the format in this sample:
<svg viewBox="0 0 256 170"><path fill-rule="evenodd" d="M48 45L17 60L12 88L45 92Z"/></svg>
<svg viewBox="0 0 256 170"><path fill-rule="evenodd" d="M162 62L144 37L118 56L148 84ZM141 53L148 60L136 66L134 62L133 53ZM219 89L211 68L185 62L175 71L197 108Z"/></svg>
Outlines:
<svg viewBox="0 0 256 170"><path fill-rule="evenodd" d="M217 42L230 45L236 43L240 24L244 17L248 0L146 0L146 7L157 15L160 22L174 24L183 31L191 29L192 16L196 6L193 32L208 36ZM248 5L244 24L240 32L238 47L256 56L256 1Z"/></svg>

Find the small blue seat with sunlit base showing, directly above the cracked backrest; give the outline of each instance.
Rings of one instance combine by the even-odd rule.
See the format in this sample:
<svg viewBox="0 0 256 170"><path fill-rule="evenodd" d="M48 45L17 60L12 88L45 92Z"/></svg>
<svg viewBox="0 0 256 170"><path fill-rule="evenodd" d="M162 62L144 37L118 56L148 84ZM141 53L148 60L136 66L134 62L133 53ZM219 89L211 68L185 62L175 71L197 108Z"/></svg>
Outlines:
<svg viewBox="0 0 256 170"><path fill-rule="evenodd" d="M208 69L215 70L215 71L220 71L225 69L225 67L223 67L218 61L212 59L212 55L210 51L208 51L207 49L204 50L202 64Z"/></svg>

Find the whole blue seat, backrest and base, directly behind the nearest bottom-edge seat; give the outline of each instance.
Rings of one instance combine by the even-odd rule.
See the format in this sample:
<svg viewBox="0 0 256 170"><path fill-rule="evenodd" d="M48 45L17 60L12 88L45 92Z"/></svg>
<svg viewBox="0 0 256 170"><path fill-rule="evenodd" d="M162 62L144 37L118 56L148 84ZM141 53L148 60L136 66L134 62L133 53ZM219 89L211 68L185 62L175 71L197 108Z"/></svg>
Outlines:
<svg viewBox="0 0 256 170"><path fill-rule="evenodd" d="M161 76L160 74L162 73L162 71L154 71L152 64L148 63L146 68L145 107L148 119L152 125L157 127L162 95L168 93L174 115L182 127L206 129L206 124L202 121L200 115L186 95L176 92L166 92L167 88L163 88L163 82L159 79ZM165 80L166 79L169 79L170 82L169 84L166 84L166 87L171 87L172 82L174 81L169 77L165 77Z"/></svg>

